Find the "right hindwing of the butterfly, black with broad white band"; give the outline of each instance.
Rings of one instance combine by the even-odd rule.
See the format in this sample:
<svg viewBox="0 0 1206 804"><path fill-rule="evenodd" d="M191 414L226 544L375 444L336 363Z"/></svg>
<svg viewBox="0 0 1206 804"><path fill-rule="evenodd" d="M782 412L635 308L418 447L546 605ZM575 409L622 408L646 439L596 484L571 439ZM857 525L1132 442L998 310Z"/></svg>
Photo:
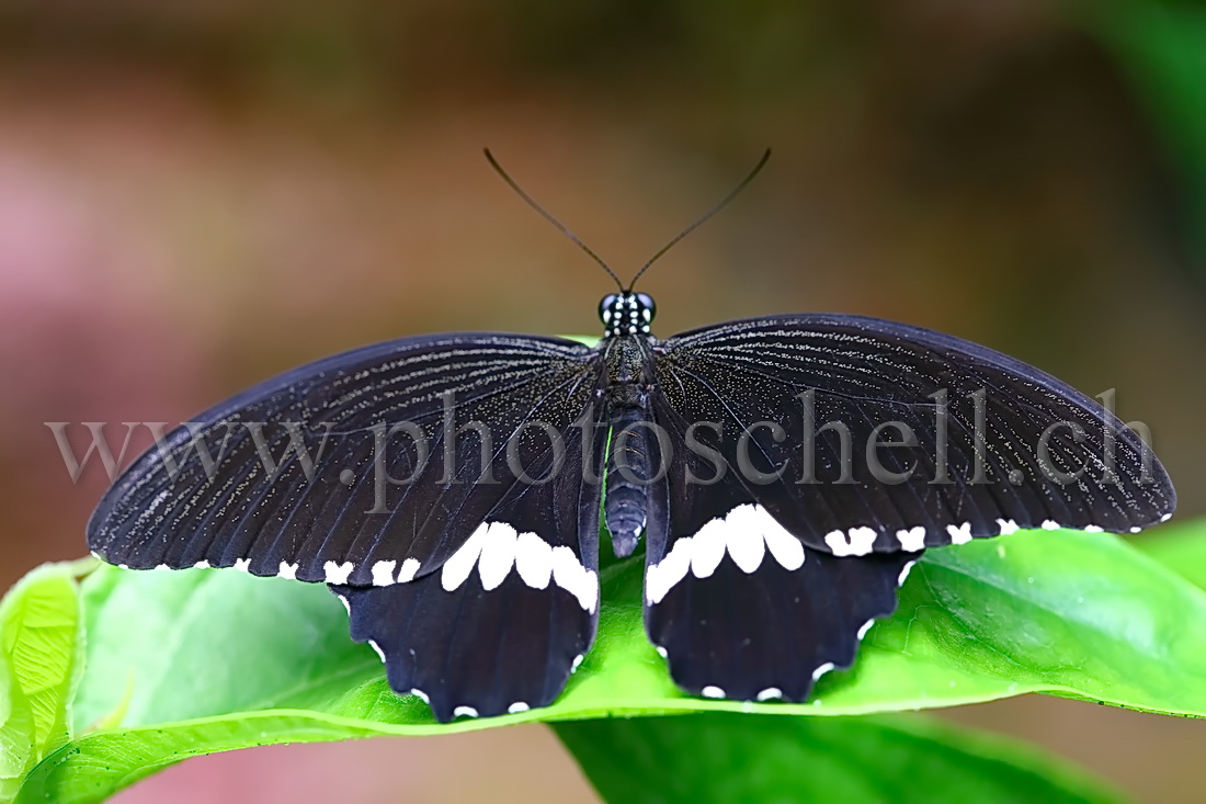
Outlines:
<svg viewBox="0 0 1206 804"><path fill-rule="evenodd" d="M645 630L683 689L737 700L808 698L854 662L919 555L837 558L802 542L726 471L690 449L687 423L655 404L675 460L667 513L646 531Z"/></svg>

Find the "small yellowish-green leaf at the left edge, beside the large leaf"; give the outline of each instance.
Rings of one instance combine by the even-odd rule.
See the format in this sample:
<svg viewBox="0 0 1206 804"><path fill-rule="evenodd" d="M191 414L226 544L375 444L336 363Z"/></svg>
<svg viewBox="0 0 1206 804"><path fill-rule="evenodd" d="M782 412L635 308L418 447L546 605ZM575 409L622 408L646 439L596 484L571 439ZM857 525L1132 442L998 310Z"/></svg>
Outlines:
<svg viewBox="0 0 1206 804"><path fill-rule="evenodd" d="M0 601L0 802L71 739L68 709L81 666L76 570L40 567Z"/></svg>

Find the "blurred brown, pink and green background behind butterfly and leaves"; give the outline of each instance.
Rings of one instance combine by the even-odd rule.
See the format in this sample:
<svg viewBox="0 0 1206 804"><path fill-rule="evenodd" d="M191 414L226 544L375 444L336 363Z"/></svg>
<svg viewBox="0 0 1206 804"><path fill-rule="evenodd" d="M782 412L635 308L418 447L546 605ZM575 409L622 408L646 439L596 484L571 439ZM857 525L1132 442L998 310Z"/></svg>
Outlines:
<svg viewBox="0 0 1206 804"><path fill-rule="evenodd" d="M835 310L971 338L1118 389L1206 513L1198 4L0 0L4 587L81 555L107 484L46 421L119 444L373 340L599 332L607 276L486 145L625 276L772 146L643 280L660 334ZM1200 723L943 716L1195 798ZM199 758L117 800L486 796L593 800L538 727Z"/></svg>

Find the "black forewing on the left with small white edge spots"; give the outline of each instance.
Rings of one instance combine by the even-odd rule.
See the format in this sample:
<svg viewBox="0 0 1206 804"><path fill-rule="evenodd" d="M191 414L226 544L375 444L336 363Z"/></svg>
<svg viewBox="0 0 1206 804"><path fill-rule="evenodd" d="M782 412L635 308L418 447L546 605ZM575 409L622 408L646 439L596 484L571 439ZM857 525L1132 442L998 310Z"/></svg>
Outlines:
<svg viewBox="0 0 1206 804"><path fill-rule="evenodd" d="M527 444L581 437L598 378L590 349L557 338L450 334L336 355L170 433L101 500L88 543L135 569L422 577L529 471Z"/></svg>

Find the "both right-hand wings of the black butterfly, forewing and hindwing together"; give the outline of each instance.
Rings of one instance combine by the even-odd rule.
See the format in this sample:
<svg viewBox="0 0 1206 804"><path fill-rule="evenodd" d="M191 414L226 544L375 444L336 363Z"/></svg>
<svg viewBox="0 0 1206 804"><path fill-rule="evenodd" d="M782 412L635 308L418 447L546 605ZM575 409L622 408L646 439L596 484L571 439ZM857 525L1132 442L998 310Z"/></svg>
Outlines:
<svg viewBox="0 0 1206 804"><path fill-rule="evenodd" d="M926 547L1017 528L1124 532L1175 505L1151 449L1101 406L949 336L785 316L685 333L656 355L654 416L675 459L650 495L668 502L646 534L645 627L696 694L804 700L895 610ZM877 439L898 444L877 447L878 465Z"/></svg>

